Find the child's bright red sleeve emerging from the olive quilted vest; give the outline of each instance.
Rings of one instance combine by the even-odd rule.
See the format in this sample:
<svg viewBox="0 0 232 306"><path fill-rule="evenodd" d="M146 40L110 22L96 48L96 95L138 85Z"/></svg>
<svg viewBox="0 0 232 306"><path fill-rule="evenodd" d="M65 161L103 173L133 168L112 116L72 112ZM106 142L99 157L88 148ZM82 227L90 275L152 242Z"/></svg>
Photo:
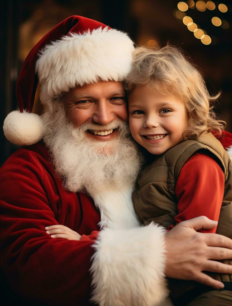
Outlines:
<svg viewBox="0 0 232 306"><path fill-rule="evenodd" d="M201 215L218 221L224 185L224 173L214 159L201 153L193 155L182 167L176 183L176 223ZM215 233L216 228L200 232Z"/></svg>

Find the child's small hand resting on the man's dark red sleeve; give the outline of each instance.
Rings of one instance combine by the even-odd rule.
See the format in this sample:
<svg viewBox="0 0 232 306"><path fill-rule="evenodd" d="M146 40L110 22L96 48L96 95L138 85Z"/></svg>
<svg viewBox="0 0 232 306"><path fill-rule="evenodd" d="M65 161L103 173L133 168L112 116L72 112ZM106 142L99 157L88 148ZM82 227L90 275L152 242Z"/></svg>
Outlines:
<svg viewBox="0 0 232 306"><path fill-rule="evenodd" d="M81 235L79 235L74 230L71 230L64 225L51 225L46 226L46 233L51 235L52 238L64 238L68 240L80 240Z"/></svg>

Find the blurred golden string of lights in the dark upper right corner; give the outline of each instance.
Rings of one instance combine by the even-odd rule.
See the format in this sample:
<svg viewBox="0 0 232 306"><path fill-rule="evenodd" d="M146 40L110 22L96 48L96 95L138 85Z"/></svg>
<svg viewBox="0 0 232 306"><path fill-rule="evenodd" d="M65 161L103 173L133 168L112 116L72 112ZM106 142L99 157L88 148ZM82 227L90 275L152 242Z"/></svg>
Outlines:
<svg viewBox="0 0 232 306"><path fill-rule="evenodd" d="M186 11L188 9L196 9L200 12L205 12L207 9L210 11L215 10L215 15L217 15L217 10L219 10L222 13L226 13L228 11L228 7L220 3L216 5L213 1L196 1L188 0L186 2L178 2L177 4L178 10L175 11L175 17L177 19L180 19L183 21L183 23L186 25L187 29L191 32L193 32L194 36L197 39L200 39L201 42L204 45L209 45L212 42L211 37L207 34L207 32L204 29L201 29L199 25L197 25L195 22L193 22L193 19L190 16L187 16ZM190 15L190 14L189 14ZM211 18L211 22L215 27L221 27L223 29L228 29L230 27L230 24L225 19L220 19L217 16L214 16Z"/></svg>

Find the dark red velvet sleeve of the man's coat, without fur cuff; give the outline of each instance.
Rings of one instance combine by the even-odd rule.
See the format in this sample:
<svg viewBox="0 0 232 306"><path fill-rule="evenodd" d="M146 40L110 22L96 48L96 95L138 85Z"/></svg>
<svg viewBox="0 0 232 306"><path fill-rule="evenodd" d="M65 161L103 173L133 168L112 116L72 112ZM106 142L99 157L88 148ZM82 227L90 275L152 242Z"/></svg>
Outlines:
<svg viewBox="0 0 232 306"><path fill-rule="evenodd" d="M21 149L0 171L1 268L13 289L36 305L89 305L94 241L46 234L46 226L64 216L71 223L83 210L75 194L66 192L60 200L65 191L48 180L51 169L39 158Z"/></svg>

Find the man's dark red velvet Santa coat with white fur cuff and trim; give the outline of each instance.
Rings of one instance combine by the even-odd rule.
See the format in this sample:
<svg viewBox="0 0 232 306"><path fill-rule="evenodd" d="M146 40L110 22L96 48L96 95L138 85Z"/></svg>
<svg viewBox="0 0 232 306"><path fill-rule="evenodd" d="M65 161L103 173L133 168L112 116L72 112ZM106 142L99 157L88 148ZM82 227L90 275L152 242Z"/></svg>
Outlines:
<svg viewBox="0 0 232 306"><path fill-rule="evenodd" d="M66 191L42 143L17 150L5 162L0 195L1 269L21 296L40 305L78 306L88 305L91 296L99 305L133 306L164 298L162 228L138 227L133 213L117 211L107 195L106 207L115 210L101 206L101 195L97 209L88 195ZM52 239L45 232L62 224L88 235L99 230L101 218L108 228L95 243Z"/></svg>

